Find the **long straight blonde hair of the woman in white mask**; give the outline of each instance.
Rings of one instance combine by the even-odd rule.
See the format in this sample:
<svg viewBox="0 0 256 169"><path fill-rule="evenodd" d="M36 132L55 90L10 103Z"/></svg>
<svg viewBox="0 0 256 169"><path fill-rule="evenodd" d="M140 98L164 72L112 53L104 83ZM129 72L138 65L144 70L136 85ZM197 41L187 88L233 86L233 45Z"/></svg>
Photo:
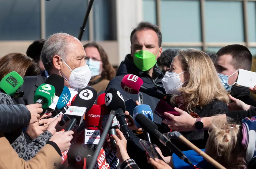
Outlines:
<svg viewBox="0 0 256 169"><path fill-rule="evenodd" d="M186 76L189 77L180 88L188 112L193 112L192 108L196 106L202 108L212 100L229 102L228 93L221 84L211 58L206 53L187 49L179 51L177 57Z"/></svg>

